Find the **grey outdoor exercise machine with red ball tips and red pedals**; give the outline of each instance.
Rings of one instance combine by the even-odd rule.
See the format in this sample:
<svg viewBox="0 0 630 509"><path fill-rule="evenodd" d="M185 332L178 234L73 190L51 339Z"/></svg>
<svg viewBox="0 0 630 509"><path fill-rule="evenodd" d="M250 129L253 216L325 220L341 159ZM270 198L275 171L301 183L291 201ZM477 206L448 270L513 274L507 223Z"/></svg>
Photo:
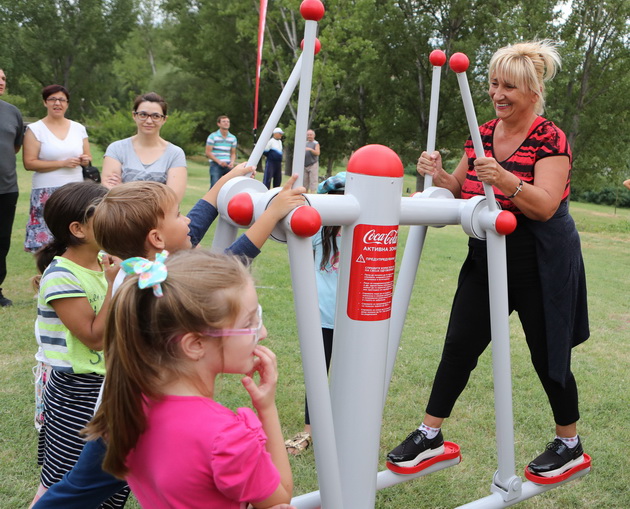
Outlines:
<svg viewBox="0 0 630 509"><path fill-rule="evenodd" d="M300 82L293 172L304 167L314 56L319 51L317 22L324 15L319 0L305 0L303 52L278 99L248 164L255 166L263 147ZM430 56L433 65L427 150L435 147L442 52ZM456 73L475 154L484 155L468 88L466 55L450 59ZM462 507L508 507L576 479L590 470L590 458L558 476L539 478L526 472L523 482L514 469L514 431L510 369L505 235L516 227L511 212L502 211L491 186L485 197L455 199L450 191L431 186L422 193L401 197L403 165L391 149L368 145L348 162L344 195L307 195L307 205L292 211L272 233L288 246L298 335L306 393L311 409L315 462L320 491L297 496L300 509L374 507L376 490L435 472L460 462L459 447L446 442L444 454L403 469L389 465L378 472L382 413L400 344L422 247L428 226L461 225L464 232L488 245L488 277L492 327L492 358L496 414L498 470L491 495ZM267 190L259 181L236 178L219 193L219 222L213 249L223 250L239 228L259 217L279 189ZM342 225L339 283L330 387L317 302L311 239L322 225ZM411 225L394 289L399 225Z"/></svg>

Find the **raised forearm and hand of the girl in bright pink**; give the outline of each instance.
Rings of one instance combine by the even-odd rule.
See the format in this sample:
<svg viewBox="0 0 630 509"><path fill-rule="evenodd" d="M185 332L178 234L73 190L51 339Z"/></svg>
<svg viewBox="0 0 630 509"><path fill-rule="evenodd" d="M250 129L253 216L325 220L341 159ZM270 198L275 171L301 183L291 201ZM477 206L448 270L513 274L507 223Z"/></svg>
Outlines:
<svg viewBox="0 0 630 509"><path fill-rule="evenodd" d="M273 494L260 502L253 503L256 509L268 509L279 504L288 504L293 494L293 477L287 450L284 447L280 418L276 408L276 386L278 384L278 362L276 355L269 348L258 345L254 350L258 362L254 372L260 375L258 384L250 376L241 380L252 398L252 404L258 412L258 418L267 435L267 452L280 473L280 484ZM281 506L282 507L282 506Z"/></svg>

